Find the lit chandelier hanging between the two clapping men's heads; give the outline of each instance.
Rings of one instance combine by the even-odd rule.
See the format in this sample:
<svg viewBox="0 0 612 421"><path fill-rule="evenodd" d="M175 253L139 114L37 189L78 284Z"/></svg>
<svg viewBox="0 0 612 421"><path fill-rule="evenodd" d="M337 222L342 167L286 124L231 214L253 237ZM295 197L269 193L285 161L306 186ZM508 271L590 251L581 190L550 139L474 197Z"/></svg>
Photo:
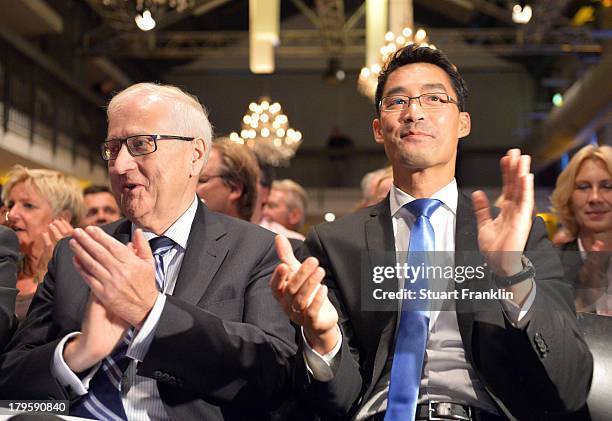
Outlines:
<svg viewBox="0 0 612 421"><path fill-rule="evenodd" d="M273 166L288 165L302 144L302 133L289 126L289 119L278 102L262 97L251 102L242 117L240 133L232 132L230 139L246 144L261 159Z"/></svg>

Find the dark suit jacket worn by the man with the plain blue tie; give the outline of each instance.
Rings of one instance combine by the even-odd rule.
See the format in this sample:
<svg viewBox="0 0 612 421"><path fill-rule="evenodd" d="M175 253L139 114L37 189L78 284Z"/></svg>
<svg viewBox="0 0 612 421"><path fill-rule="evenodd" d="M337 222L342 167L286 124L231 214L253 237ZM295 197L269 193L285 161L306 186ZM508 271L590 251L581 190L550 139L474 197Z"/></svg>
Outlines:
<svg viewBox="0 0 612 421"><path fill-rule="evenodd" d="M318 382L307 375L303 362L296 379L305 399L324 418L346 419L365 402L380 378L393 346L380 340L385 329L395 329L397 311L362 311L362 270L372 273L374 263L364 253L391 252L395 264L395 239L389 198L334 223L315 227L304 250L319 259L326 270L329 296L339 311L343 342L336 375ZM470 199L459 194L455 233L455 265L482 265L477 228ZM465 355L500 413L510 418L542 419L543 414L580 408L586 399L592 357L577 327L570 286L563 280L558 256L537 219L525 254L536 267L534 313L525 330L511 326L501 304L492 300L487 310L457 300L457 319ZM361 259L361 262L358 262ZM366 261L363 261L363 260ZM370 276L371 279L371 276ZM487 282L466 281L462 288L494 288ZM390 302L389 306L397 305ZM489 311L490 310L490 311ZM394 337L394 335L392 336ZM552 417L554 419L554 416Z"/></svg>

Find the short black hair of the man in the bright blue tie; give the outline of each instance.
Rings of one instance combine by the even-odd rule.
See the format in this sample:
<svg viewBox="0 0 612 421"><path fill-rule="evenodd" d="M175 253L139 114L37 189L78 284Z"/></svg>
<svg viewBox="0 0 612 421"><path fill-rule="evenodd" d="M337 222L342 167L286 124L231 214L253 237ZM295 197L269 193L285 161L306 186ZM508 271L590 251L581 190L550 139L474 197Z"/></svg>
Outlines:
<svg viewBox="0 0 612 421"><path fill-rule="evenodd" d="M451 80L453 89L457 93L457 106L459 107L459 111L465 111L465 102L468 95L467 85L457 71L457 67L451 63L448 57L440 50L409 44L393 53L378 75L378 85L376 86L375 97L376 115L380 116L380 100L382 99L382 94L385 90L385 84L387 83L389 75L398 68L413 63L430 63L444 70Z"/></svg>

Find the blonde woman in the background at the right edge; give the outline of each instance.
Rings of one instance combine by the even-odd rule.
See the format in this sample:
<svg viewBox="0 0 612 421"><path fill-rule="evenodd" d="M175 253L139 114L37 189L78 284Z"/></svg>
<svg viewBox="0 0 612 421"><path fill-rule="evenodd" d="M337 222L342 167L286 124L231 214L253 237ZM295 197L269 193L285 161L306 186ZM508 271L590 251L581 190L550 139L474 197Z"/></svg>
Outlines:
<svg viewBox="0 0 612 421"><path fill-rule="evenodd" d="M612 147L587 145L559 174L552 208L571 235L561 262L575 288L576 310L612 315Z"/></svg>

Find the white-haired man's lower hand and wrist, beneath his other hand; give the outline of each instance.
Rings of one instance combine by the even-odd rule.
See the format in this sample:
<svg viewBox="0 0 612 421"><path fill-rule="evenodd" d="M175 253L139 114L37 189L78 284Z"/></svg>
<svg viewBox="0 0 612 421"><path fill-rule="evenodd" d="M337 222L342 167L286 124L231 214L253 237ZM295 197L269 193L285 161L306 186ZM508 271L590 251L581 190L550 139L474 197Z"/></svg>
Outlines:
<svg viewBox="0 0 612 421"><path fill-rule="evenodd" d="M93 367L110 355L128 327L127 322L106 310L100 300L90 293L82 332L64 347L64 361L75 373Z"/></svg>

